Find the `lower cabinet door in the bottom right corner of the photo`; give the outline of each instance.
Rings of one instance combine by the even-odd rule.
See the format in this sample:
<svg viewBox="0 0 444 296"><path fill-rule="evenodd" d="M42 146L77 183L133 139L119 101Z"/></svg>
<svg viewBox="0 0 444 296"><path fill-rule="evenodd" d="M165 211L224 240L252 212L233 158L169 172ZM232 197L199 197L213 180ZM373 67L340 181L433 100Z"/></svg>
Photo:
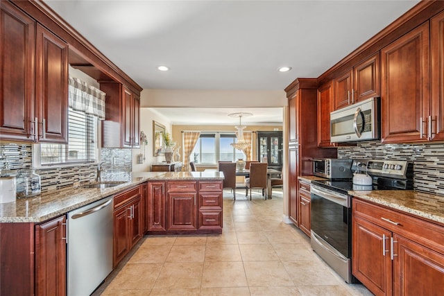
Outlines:
<svg viewBox="0 0 444 296"><path fill-rule="evenodd" d="M444 255L393 235L393 295L441 295Z"/></svg>

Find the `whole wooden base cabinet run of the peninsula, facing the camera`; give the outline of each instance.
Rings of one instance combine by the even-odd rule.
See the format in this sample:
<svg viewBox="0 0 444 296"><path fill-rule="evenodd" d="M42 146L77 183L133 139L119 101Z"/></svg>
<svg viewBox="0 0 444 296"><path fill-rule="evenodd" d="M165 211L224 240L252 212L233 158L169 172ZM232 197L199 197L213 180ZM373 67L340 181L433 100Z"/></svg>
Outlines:
<svg viewBox="0 0 444 296"><path fill-rule="evenodd" d="M148 234L222 232L222 181L148 182Z"/></svg>

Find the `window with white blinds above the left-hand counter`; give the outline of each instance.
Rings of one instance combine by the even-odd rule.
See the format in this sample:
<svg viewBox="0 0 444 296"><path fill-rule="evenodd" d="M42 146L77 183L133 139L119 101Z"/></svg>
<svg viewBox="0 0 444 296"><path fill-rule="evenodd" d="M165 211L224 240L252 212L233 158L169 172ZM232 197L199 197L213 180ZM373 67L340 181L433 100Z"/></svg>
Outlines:
<svg viewBox="0 0 444 296"><path fill-rule="evenodd" d="M68 144L42 143L33 153L40 166L96 161L97 117L85 112L68 111ZM40 148L40 149L39 149ZM40 150L40 153L38 153Z"/></svg>

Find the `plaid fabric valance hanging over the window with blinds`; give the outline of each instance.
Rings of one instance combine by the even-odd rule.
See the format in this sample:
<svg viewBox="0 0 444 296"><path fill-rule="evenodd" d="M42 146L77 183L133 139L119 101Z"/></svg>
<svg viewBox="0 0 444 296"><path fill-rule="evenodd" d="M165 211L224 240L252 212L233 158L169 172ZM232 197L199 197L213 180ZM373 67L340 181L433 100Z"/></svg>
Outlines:
<svg viewBox="0 0 444 296"><path fill-rule="evenodd" d="M69 107L105 119L104 92L74 77L69 77L68 85Z"/></svg>

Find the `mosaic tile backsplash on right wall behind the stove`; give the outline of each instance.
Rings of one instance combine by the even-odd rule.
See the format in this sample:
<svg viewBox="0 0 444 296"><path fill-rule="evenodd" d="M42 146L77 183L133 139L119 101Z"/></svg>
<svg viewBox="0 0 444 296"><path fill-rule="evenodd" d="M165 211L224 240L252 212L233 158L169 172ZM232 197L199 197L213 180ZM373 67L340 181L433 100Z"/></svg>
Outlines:
<svg viewBox="0 0 444 296"><path fill-rule="evenodd" d="M358 142L339 147L338 158L402 159L413 162L413 189L444 196L444 143Z"/></svg>

